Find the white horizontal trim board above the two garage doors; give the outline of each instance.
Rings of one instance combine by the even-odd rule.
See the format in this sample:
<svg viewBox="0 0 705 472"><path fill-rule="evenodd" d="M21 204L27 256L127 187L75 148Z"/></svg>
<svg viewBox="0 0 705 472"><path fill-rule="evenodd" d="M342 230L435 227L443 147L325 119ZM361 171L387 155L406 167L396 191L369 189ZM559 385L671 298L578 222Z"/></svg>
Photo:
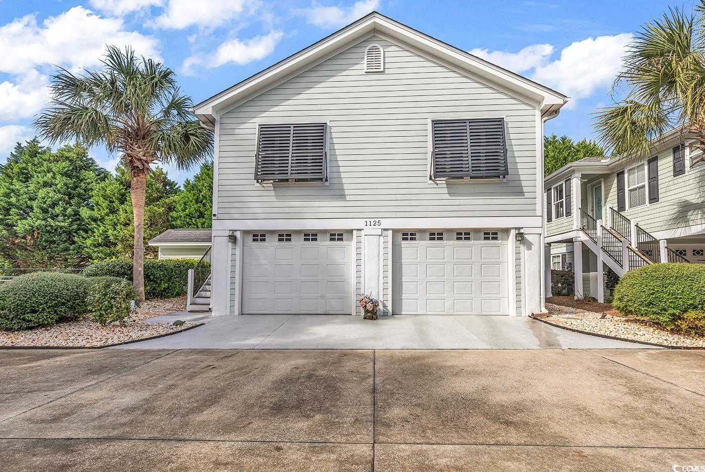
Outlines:
<svg viewBox="0 0 705 472"><path fill-rule="evenodd" d="M465 216L429 218L376 218L382 230L467 228L505 229L523 228L524 232L539 234L541 216ZM310 218L277 220L214 220L213 235L224 236L230 230L356 230L365 228L364 218Z"/></svg>

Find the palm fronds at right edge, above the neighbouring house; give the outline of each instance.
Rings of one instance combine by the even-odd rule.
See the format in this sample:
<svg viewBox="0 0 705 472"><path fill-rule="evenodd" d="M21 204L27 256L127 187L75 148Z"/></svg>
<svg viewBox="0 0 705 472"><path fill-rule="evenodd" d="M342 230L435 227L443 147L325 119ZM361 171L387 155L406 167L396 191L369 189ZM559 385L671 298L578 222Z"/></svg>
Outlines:
<svg viewBox="0 0 705 472"><path fill-rule="evenodd" d="M627 49L614 106L596 116L599 141L616 154L649 151L665 132L692 132L705 150L705 0L687 13L670 8Z"/></svg>

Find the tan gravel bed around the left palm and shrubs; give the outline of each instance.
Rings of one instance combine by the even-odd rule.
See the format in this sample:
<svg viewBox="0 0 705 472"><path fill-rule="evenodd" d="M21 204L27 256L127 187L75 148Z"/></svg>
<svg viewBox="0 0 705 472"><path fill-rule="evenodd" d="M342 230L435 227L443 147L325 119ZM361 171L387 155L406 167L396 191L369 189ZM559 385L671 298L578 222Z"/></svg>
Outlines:
<svg viewBox="0 0 705 472"><path fill-rule="evenodd" d="M101 326L85 319L59 323L46 328L25 331L0 330L0 347L101 347L109 344L142 340L146 337L178 333L192 328L197 323L184 323L174 326L170 323L147 323L152 316L184 311L186 297L157 299L145 302L128 318L125 325L113 323Z"/></svg>

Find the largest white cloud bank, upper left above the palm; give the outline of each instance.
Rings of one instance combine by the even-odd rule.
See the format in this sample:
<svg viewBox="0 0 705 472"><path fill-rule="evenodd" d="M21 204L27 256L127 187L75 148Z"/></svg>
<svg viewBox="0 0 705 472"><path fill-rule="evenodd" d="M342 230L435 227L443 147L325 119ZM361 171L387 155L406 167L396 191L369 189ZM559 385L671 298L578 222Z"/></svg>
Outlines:
<svg viewBox="0 0 705 472"><path fill-rule="evenodd" d="M41 64L74 70L97 66L106 44L129 44L140 54L159 57L157 39L125 30L119 18L102 18L75 6L41 25L35 15L26 15L0 27L0 72L29 73Z"/></svg>

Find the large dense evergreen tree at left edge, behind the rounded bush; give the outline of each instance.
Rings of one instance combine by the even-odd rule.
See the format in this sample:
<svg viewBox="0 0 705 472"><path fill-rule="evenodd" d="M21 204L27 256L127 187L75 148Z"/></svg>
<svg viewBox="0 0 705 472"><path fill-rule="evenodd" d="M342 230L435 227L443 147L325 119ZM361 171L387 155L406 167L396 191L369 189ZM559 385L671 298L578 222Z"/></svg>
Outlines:
<svg viewBox="0 0 705 472"><path fill-rule="evenodd" d="M108 177L80 145L52 152L17 144L0 165L0 259L12 267L72 268L89 259L85 240L94 187Z"/></svg>

